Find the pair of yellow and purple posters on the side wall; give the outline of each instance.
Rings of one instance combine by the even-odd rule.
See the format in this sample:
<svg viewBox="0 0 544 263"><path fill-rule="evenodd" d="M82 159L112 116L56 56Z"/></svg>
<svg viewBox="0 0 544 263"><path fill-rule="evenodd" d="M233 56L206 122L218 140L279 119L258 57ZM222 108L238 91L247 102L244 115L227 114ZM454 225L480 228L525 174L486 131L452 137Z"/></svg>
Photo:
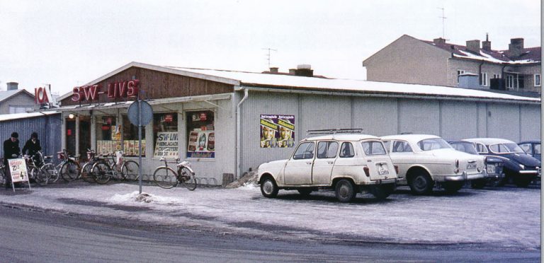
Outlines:
<svg viewBox="0 0 544 263"><path fill-rule="evenodd" d="M261 115L261 148L295 145L295 115Z"/></svg>

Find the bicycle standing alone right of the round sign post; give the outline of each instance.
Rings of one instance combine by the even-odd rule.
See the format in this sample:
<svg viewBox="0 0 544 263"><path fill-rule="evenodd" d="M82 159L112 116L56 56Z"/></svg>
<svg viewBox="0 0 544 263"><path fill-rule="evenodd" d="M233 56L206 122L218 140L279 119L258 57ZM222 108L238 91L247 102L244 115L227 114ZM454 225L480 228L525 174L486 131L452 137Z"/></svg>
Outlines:
<svg viewBox="0 0 544 263"><path fill-rule="evenodd" d="M169 162L166 160L166 157L164 157L165 154L165 151L162 151L162 156L160 158L161 161L164 161L164 166L155 168L153 173L155 184L159 187L170 189L176 187L181 182L181 185L191 191L196 189L196 177L195 172L191 169L191 163L186 160L178 163L179 158L176 158L175 163L177 163L176 167L178 168L176 173L174 169L168 166Z"/></svg>

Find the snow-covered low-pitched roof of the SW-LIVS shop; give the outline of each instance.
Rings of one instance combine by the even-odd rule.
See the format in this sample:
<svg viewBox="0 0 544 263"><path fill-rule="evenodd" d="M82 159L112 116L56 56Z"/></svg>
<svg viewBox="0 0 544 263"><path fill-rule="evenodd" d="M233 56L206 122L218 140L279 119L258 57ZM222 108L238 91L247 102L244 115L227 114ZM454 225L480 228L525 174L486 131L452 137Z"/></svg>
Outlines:
<svg viewBox="0 0 544 263"><path fill-rule="evenodd" d="M153 71L160 71L180 76L202 78L208 81L228 83L242 88L268 89L288 92L303 92L305 90L323 93L357 93L361 95L396 96L396 97L438 97L457 98L466 100L502 100L528 103L540 103L540 98L528 98L518 95L493 93L484 90L471 90L465 88L452 88L446 86L431 86L421 84L388 83L376 81L364 81L341 78L314 78L305 76L293 76L284 74L263 74L248 71L229 71L217 69L194 69L176 66L155 66L139 62L131 62L125 66L111 71L86 84L94 85L115 74L131 67L139 67ZM67 93L60 98L68 98L72 93Z"/></svg>

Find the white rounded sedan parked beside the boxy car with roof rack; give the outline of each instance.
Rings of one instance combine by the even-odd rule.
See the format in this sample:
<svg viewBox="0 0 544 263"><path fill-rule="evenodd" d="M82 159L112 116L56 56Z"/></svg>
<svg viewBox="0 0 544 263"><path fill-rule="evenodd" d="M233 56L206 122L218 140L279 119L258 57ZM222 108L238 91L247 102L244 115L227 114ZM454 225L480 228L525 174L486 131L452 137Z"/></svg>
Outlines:
<svg viewBox="0 0 544 263"><path fill-rule="evenodd" d="M429 194L433 187L458 192L465 182L487 177L484 157L455 151L435 135L401 134L383 136L400 181L413 194Z"/></svg>

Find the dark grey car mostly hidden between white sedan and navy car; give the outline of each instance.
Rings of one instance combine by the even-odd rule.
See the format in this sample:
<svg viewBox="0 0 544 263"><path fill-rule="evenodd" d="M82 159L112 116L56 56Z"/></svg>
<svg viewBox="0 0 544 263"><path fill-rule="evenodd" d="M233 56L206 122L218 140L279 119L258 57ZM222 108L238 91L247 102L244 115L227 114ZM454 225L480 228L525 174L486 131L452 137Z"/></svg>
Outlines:
<svg viewBox="0 0 544 263"><path fill-rule="evenodd" d="M480 155L480 153L476 151L476 144L470 141L453 140L448 141L448 144L457 151L462 151L475 156ZM485 156L484 162L487 177L470 181L470 187L482 189L485 185L497 186L504 179L504 173L502 173L503 162L501 158Z"/></svg>

